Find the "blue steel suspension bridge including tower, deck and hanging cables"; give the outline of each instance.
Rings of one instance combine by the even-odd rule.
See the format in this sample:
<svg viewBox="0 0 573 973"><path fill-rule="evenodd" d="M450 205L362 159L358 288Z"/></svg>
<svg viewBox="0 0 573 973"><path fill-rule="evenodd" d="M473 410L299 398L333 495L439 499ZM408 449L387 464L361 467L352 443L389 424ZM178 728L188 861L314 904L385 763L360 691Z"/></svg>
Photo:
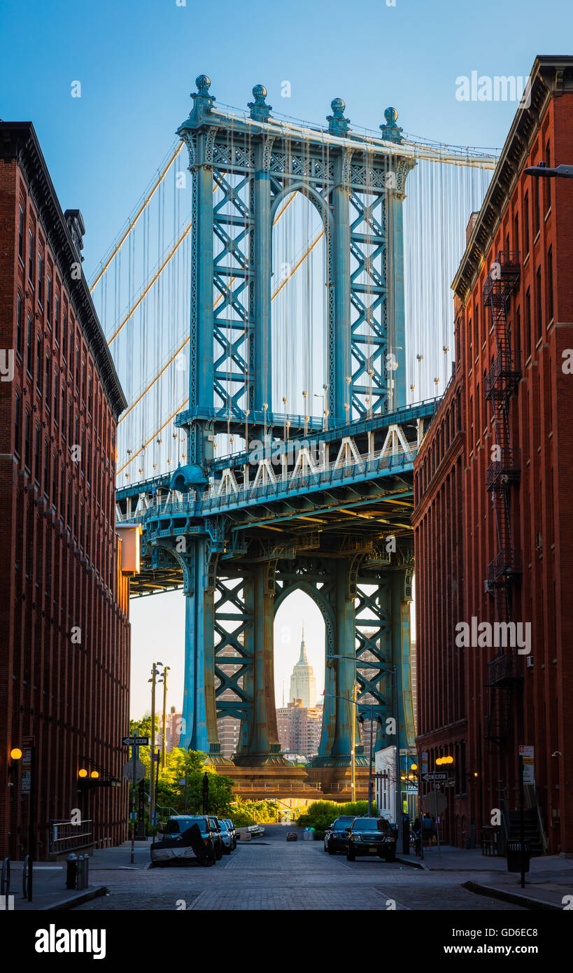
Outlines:
<svg viewBox="0 0 573 973"><path fill-rule="evenodd" d="M233 716L235 768L283 780L298 769L277 736L273 617L309 595L326 681L308 774L333 789L358 715L376 749L413 744L412 463L496 156L406 136L393 108L371 131L340 98L326 126L273 115L263 86L244 111L205 75L192 98L90 285L128 402L131 595L186 596L181 745L224 768L217 720Z"/></svg>

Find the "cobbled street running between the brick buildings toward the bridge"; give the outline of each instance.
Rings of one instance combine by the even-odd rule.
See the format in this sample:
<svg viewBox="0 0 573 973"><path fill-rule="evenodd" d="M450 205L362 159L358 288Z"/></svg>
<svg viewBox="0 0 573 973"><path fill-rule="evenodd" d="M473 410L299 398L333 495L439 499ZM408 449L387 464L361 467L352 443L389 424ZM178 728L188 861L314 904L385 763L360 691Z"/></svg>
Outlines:
<svg viewBox="0 0 573 973"><path fill-rule="evenodd" d="M471 872L421 872L379 859L347 862L322 842L286 841L286 828L266 827L260 842L239 844L213 868L92 867L90 881L110 895L75 912L99 910L495 910L524 911L474 895L461 885ZM144 849L143 855L147 858ZM125 865L128 865L128 852ZM486 881L482 873L482 881ZM474 876L475 877L475 876Z"/></svg>

